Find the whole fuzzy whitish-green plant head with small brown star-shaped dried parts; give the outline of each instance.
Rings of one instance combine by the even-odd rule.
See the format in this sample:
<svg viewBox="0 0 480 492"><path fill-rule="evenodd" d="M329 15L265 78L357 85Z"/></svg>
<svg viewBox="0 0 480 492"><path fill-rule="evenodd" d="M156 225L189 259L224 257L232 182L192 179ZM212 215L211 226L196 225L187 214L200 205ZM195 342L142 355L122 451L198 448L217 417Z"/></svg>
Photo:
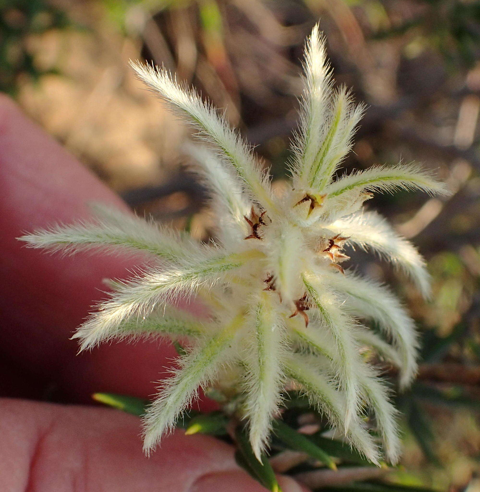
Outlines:
<svg viewBox="0 0 480 492"><path fill-rule="evenodd" d="M281 196L272 192L251 148L208 102L165 69L133 67L207 144L190 144L188 152L211 190L217 244L200 244L105 209L97 209L91 224L61 225L22 239L30 246L66 251L134 248L156 258L142 275L115 283L111 298L75 335L83 349L112 338L188 340L179 369L161 383L145 417L145 450L172 429L199 387L217 384L235 394L235 411L248 422L251 445L260 457L288 385L378 463L378 439L363 419L372 412L385 454L396 461L396 410L378 370L360 350L370 347L396 365L405 386L416 372L415 327L386 286L344 270L345 246L380 253L428 295L428 275L417 250L362 206L374 191L445 193L444 186L413 165L376 166L334 179L352 147L363 106L353 104L347 89L333 90L318 27L306 45L292 183ZM173 306L191 295L209 308L208 318L193 318ZM373 320L380 334L359 318Z"/></svg>

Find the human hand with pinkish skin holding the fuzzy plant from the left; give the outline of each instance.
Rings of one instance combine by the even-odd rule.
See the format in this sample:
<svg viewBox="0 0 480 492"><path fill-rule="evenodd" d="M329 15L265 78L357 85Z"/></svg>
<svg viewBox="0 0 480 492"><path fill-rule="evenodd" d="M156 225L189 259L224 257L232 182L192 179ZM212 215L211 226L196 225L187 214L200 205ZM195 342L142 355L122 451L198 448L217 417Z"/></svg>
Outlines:
<svg viewBox="0 0 480 492"><path fill-rule="evenodd" d="M87 218L92 201L126 206L58 143L0 96L0 489L7 491L263 491L236 465L233 449L176 431L149 459L140 421L86 403L96 391L146 398L175 356L168 344L120 342L76 356L70 340L102 297L105 277L126 277L132 258L100 252L40 254L15 238ZM159 374L160 373L160 374ZM203 402L203 408L209 403ZM280 477L285 492L302 489Z"/></svg>

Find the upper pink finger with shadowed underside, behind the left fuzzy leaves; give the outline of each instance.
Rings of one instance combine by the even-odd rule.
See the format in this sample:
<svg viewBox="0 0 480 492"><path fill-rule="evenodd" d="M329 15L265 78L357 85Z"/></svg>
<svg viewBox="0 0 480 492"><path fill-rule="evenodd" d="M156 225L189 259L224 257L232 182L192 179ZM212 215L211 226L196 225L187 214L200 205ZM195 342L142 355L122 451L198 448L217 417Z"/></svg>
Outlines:
<svg viewBox="0 0 480 492"><path fill-rule="evenodd" d="M77 341L69 339L90 306L106 297L102 280L129 277L128 270L144 258L101 251L62 256L29 249L15 239L37 228L89 218L92 202L128 209L5 96L0 100L0 197L5 357L71 401L91 401L96 391L153 395L155 381L176 356L171 344L120 342L77 356Z"/></svg>

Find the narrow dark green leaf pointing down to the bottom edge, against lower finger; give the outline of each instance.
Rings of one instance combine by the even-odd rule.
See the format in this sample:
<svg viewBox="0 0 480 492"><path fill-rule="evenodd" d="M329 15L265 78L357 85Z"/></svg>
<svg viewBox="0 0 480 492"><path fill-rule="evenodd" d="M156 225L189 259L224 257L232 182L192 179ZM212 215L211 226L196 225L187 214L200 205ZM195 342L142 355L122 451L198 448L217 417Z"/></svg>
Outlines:
<svg viewBox="0 0 480 492"><path fill-rule="evenodd" d="M258 480L269 491L282 492L267 456L265 454L262 455L262 462L257 460L253 454L248 436L240 426L235 430L235 438L237 439L239 448L235 454L235 459L239 466L247 471L253 478Z"/></svg>

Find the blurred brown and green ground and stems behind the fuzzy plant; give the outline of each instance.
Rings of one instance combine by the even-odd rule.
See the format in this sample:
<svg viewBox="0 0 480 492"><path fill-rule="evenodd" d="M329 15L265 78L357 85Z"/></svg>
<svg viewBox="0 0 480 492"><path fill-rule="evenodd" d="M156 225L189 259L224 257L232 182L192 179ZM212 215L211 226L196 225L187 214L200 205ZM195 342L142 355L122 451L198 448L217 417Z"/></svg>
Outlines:
<svg viewBox="0 0 480 492"><path fill-rule="evenodd" d="M406 452L391 479L480 491L480 1L1 0L0 90L139 214L208 240L214 217L180 152L188 129L128 60L167 66L224 109L281 190L318 19L336 83L368 105L345 169L415 159L453 191L369 202L427 258L430 302L355 253L424 340L419 378L398 397Z"/></svg>

